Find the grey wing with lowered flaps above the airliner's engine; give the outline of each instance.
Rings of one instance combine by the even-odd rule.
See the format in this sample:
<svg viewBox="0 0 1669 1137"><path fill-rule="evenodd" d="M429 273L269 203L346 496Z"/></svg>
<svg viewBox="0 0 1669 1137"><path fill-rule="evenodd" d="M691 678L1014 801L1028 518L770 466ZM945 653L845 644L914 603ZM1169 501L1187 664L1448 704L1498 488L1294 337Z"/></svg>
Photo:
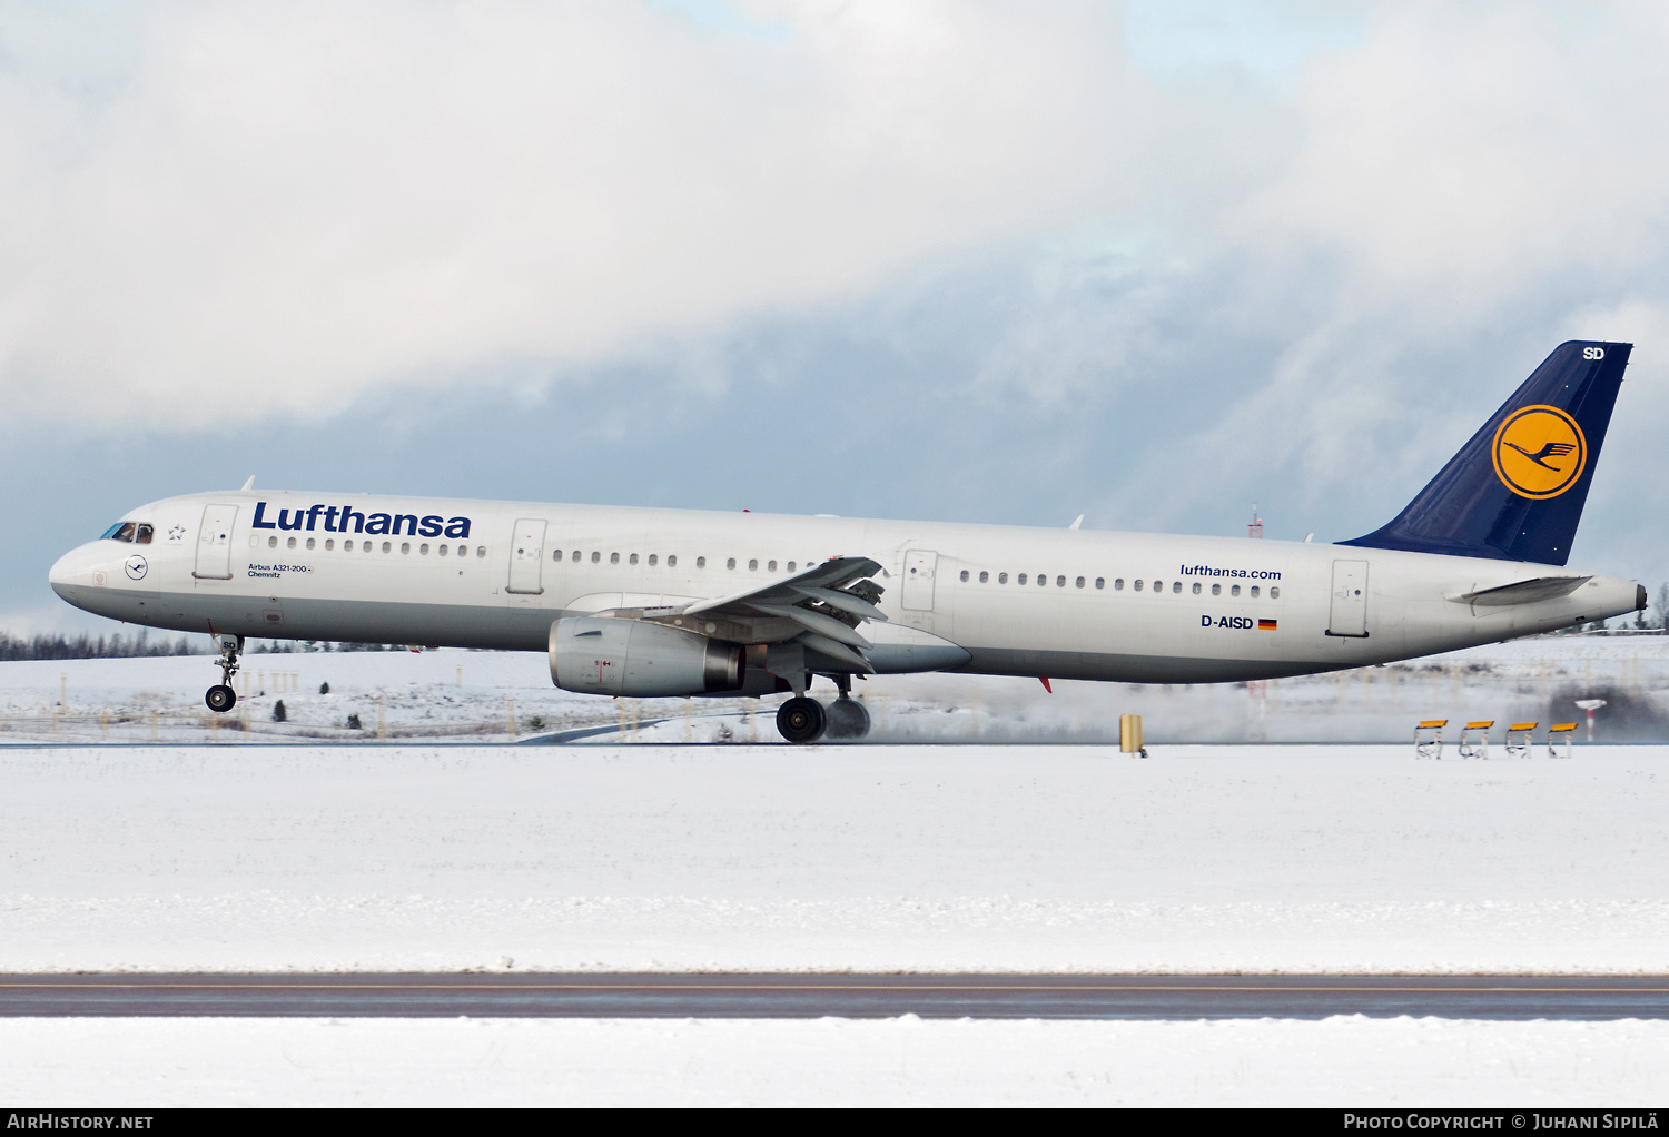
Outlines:
<svg viewBox="0 0 1669 1137"><path fill-rule="evenodd" d="M798 646L808 671L873 673L865 654L873 644L858 633L866 619L885 621L875 601L881 588L868 578L881 571L866 556L838 556L794 576L746 591L659 608L618 609L616 616L673 624L744 644ZM598 613L609 614L609 613Z"/></svg>

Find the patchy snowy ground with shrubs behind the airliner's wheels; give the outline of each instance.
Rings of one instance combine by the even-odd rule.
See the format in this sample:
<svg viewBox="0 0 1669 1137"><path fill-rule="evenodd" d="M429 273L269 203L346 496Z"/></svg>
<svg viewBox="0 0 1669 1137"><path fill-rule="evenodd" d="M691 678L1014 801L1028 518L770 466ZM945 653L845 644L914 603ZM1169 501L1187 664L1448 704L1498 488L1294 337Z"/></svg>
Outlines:
<svg viewBox="0 0 1669 1137"><path fill-rule="evenodd" d="M638 741L746 743L776 741L779 701L749 716L746 700L569 695L537 653L284 653L245 656L245 698L215 716L202 693L217 676L210 656L0 663L0 741L509 741L614 725ZM1158 745L1404 741L1422 718L1571 721L1587 696L1607 700L1599 740L1669 743L1666 636L1545 636L1250 686L1053 686L920 675L875 678L858 695L875 743L1117 741L1120 713L1143 715ZM285 723L272 721L280 700ZM648 720L664 721L633 731Z"/></svg>

